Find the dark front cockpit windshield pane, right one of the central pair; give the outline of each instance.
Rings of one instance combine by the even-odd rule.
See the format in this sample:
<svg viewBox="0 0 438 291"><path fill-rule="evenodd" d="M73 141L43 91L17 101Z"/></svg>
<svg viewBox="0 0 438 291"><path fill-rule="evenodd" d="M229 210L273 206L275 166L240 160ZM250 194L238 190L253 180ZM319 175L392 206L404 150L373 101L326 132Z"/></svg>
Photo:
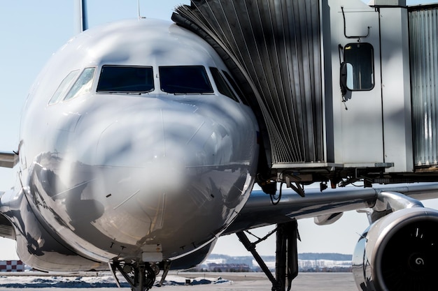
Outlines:
<svg viewBox="0 0 438 291"><path fill-rule="evenodd" d="M170 94L212 94L204 66L161 66L160 87Z"/></svg>

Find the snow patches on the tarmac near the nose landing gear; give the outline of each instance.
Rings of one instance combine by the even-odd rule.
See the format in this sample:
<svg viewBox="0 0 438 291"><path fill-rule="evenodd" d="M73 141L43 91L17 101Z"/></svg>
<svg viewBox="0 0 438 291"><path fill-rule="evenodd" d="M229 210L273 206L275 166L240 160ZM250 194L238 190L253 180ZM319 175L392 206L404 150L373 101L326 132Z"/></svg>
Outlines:
<svg viewBox="0 0 438 291"><path fill-rule="evenodd" d="M8 274L9 275L9 274ZM23 274L24 275L24 274ZM161 277L157 277L155 285L160 282ZM229 283L222 278L193 278L188 279L182 276L169 275L163 285L186 285L190 280L190 285L201 284L220 284ZM120 280L123 288L129 288L126 281ZM14 274L6 276L0 274L0 286L2 288L115 288L115 280L111 274L98 274L97 276L47 276L46 274L29 274L25 276Z"/></svg>

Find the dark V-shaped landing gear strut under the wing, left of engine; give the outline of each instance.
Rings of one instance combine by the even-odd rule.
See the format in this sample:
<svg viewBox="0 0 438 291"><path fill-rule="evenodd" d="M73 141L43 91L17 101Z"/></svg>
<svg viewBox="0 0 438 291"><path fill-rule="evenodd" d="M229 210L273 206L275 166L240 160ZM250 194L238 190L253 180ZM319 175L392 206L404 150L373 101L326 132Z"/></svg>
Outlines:
<svg viewBox="0 0 438 291"><path fill-rule="evenodd" d="M269 281L271 281L271 290L289 291L292 280L298 275L297 239L299 239L299 236L297 221L278 224L276 232L275 278L255 250L257 243L251 243L243 232L236 232L236 234L243 246L253 255L264 274L269 278Z"/></svg>

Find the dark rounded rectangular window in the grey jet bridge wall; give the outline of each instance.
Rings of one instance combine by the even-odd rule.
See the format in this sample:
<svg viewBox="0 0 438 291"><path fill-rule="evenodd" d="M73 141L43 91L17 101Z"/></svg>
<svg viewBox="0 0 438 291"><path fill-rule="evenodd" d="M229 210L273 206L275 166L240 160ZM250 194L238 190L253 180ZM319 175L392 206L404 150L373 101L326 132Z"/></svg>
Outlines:
<svg viewBox="0 0 438 291"><path fill-rule="evenodd" d="M374 49L369 43L348 43L344 47L346 87L351 91L374 88Z"/></svg>

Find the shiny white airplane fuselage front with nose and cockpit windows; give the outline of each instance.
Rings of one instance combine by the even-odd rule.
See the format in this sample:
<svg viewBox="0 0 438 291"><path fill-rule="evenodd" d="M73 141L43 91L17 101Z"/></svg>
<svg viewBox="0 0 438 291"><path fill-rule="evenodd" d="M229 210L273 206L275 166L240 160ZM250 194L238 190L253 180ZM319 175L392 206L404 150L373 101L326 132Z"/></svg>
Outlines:
<svg viewBox="0 0 438 291"><path fill-rule="evenodd" d="M22 112L20 258L99 269L215 241L248 199L258 153L257 121L227 78L204 40L168 22L107 24L64 45ZM57 244L78 262L52 266Z"/></svg>

